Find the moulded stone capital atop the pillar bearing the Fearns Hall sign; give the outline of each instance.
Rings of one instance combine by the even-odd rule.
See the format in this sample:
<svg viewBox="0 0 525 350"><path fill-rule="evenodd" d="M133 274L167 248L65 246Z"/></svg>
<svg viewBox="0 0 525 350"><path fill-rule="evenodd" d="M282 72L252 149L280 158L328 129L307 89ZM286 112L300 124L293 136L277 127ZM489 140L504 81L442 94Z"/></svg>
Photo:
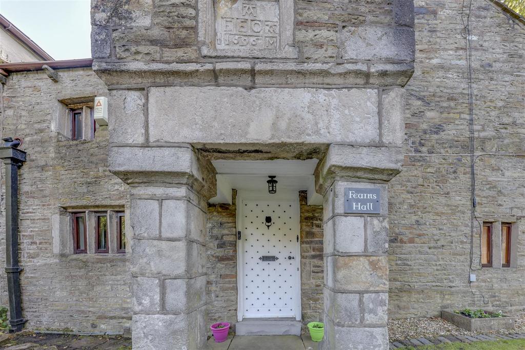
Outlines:
<svg viewBox="0 0 525 350"><path fill-rule="evenodd" d="M324 195L335 179L388 182L401 172L402 165L403 148L400 146L331 144L314 172L316 190Z"/></svg>

